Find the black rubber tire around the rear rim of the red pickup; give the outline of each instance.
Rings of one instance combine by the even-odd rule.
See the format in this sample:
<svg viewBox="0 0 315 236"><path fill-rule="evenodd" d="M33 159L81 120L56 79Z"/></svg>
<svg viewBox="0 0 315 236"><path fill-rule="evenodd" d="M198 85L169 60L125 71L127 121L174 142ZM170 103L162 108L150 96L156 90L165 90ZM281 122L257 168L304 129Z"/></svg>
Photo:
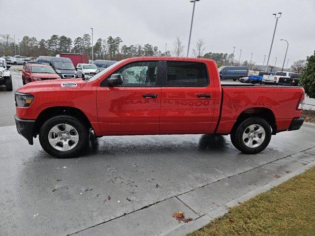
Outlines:
<svg viewBox="0 0 315 236"><path fill-rule="evenodd" d="M244 143L245 141L243 140L243 133L250 125L253 124L260 125L265 130L265 138L258 147L250 148ZM232 144L235 148L246 154L255 154L261 152L268 146L271 140L271 127L269 123L263 118L247 118L244 121L235 124L230 136Z"/></svg>

